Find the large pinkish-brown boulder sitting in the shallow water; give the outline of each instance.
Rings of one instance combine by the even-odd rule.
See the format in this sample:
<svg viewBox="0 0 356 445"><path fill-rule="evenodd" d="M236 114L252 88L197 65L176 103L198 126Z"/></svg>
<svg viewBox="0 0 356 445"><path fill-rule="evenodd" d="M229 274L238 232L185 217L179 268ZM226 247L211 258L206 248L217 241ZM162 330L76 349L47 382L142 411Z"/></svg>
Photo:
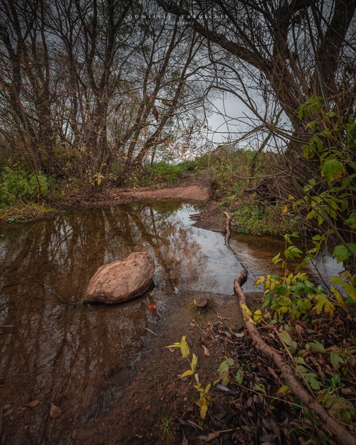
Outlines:
<svg viewBox="0 0 356 445"><path fill-rule="evenodd" d="M154 259L146 252L133 252L125 260L104 264L91 278L86 301L117 303L147 291L154 275Z"/></svg>

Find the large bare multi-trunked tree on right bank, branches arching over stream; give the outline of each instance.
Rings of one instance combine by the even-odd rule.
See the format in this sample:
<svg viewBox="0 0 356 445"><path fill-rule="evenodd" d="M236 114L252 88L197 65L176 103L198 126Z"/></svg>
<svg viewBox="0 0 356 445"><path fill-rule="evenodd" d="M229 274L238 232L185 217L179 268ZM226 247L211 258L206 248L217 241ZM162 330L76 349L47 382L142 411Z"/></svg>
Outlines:
<svg viewBox="0 0 356 445"><path fill-rule="evenodd" d="M316 178L316 194L329 193L330 184L320 169L325 161L322 156L327 155L328 149L331 153L336 145L335 156L340 159L334 165L343 163L347 175L355 154L346 149L346 135L321 137L320 146L325 147L322 156L316 149L306 159L302 147L313 138L321 107L329 117L335 113L341 125L355 119L355 1L156 1L205 37L216 78L221 80L212 88L235 94L244 101L254 113L257 126L264 127L261 143L271 133L284 145L284 161L281 157L276 171L279 178L274 188L276 194L282 198L290 194L303 198L304 186L313 178ZM268 108L270 112L266 112ZM283 117L280 119L285 122L283 126L276 124L280 110L288 118L287 122ZM325 135L337 133L337 123L329 117L320 124L327 131ZM346 152L348 161L342 156ZM353 177L349 177L352 182ZM355 212L351 182L346 207ZM315 200L309 202L316 205ZM320 212L323 212L321 206ZM339 221L340 227L346 221L343 211L338 209L333 217L324 212L322 219L332 228L335 227L332 219ZM346 227L339 242L352 241L352 232Z"/></svg>

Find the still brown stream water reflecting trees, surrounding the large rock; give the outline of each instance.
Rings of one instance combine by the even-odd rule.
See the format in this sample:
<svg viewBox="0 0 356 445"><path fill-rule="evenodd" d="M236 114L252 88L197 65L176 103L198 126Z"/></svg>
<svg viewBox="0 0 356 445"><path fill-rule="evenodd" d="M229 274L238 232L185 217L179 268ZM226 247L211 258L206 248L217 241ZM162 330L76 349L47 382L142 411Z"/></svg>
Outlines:
<svg viewBox="0 0 356 445"><path fill-rule="evenodd" d="M119 400L147 329L180 292L232 293L242 266L223 234L191 225L189 215L200 210L202 205L131 203L0 229L4 443L71 444L71 425L96 421ZM231 245L251 271L246 291L253 290L255 277L273 271L270 258L283 249L279 239L246 235ZM154 257L155 287L122 305L84 304L82 293L98 267L132 251ZM27 407L35 400L36 407ZM62 409L55 420L51 404Z"/></svg>

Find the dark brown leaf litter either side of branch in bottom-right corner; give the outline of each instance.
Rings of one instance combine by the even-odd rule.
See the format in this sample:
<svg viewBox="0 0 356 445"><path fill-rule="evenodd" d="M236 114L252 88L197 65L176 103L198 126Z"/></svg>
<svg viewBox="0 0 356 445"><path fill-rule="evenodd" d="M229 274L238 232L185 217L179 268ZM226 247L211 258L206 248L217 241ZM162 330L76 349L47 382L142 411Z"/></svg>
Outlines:
<svg viewBox="0 0 356 445"><path fill-rule="evenodd" d="M290 363L295 359L314 397L323 403L329 414L356 434L353 425L356 418L356 348L352 343L355 319L342 319L341 316L341 313L335 314L333 323L317 320L316 330L310 330L302 321L290 321L288 335L282 334L286 340L284 346L279 339L281 333L267 327L261 327L260 331L265 342L281 353L284 351ZM235 330L219 317L218 321L208 323L206 333L210 342L222 346L224 358L232 359L234 365L229 367L229 392L225 391L227 386L216 384L214 387L209 416L203 425L204 434L199 437L201 443L297 445L326 441L336 445L292 395L280 370L256 351L245 330ZM294 355L288 354L285 347ZM342 377L338 381L335 375L341 367ZM189 420L199 423L198 409L190 414ZM187 429L184 437L189 439Z"/></svg>

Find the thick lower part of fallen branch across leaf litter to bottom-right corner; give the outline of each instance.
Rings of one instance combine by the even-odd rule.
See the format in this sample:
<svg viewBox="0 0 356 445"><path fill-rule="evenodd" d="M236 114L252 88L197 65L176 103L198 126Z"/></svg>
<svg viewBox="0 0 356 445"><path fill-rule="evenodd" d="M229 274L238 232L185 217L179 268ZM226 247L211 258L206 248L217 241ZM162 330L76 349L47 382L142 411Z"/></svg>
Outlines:
<svg viewBox="0 0 356 445"><path fill-rule="evenodd" d="M315 414L319 420L325 425L327 431L336 436L339 439L340 444L356 445L356 438L350 434L342 425L337 423L334 418L329 416L327 411L318 403L307 391L304 389L302 384L296 379L292 367L285 361L285 359L279 354L276 349L269 346L262 340L255 324L249 321L249 316L247 316L244 306L246 307L246 296L244 291L242 291L242 286L246 282L248 272L247 270L242 270L242 272L237 275L234 282L235 292L239 298L239 306L241 307L242 314L244 316L244 323L249 330L253 342L255 342L255 347L263 355L269 357L274 361L276 366L279 367L283 378L290 387L290 390L298 397L298 399L308 407L313 414Z"/></svg>

